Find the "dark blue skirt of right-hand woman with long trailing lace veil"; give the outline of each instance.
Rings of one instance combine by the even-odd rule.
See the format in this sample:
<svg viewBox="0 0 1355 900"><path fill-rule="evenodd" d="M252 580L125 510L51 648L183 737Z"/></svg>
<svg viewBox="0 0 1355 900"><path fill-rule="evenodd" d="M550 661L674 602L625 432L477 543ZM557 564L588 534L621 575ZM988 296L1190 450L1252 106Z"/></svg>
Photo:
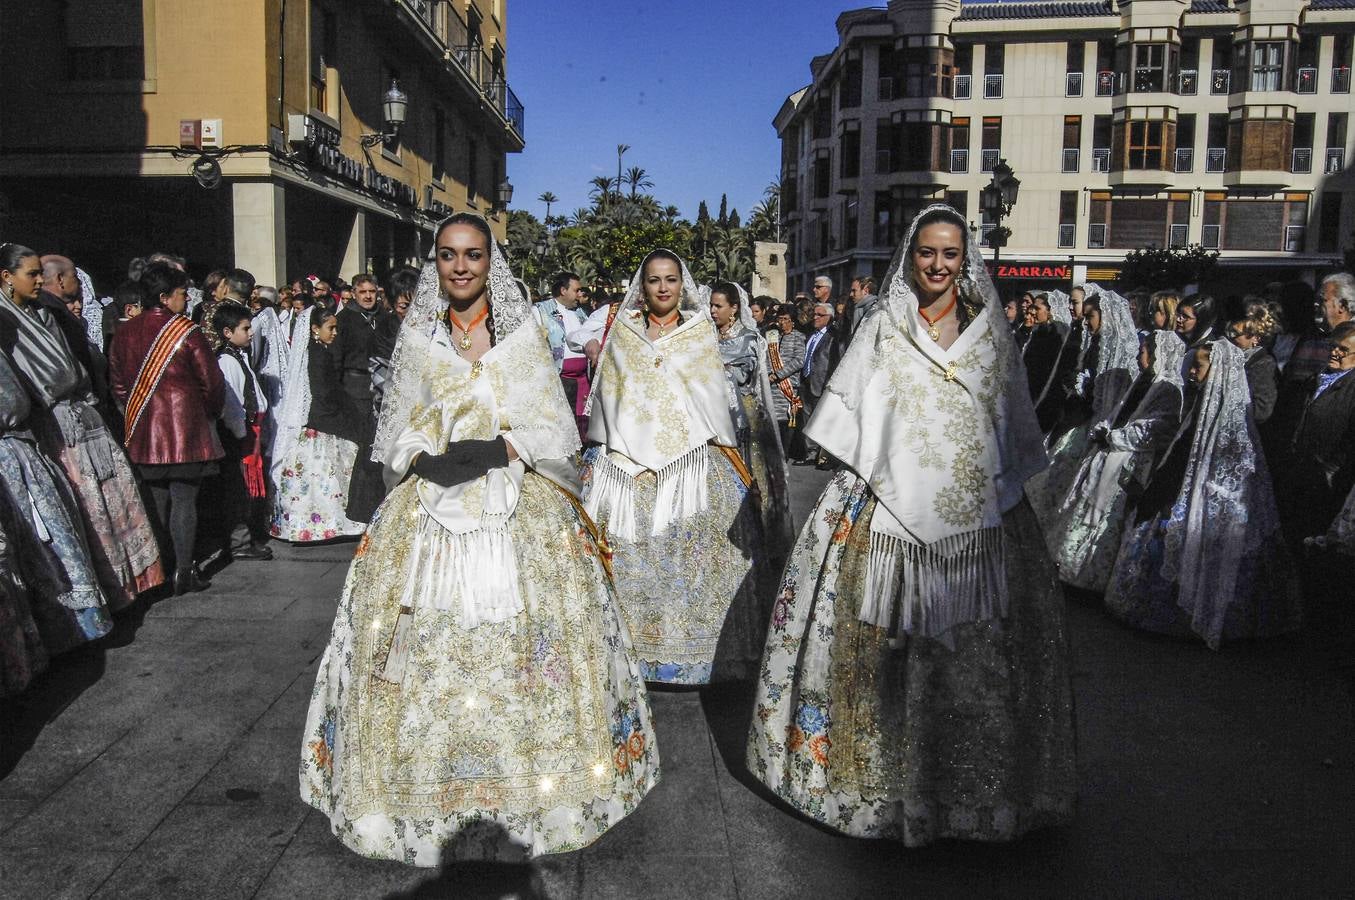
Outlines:
<svg viewBox="0 0 1355 900"><path fill-rule="evenodd" d="M1191 615L1179 605L1175 579L1163 575L1168 535L1184 527L1184 504L1177 502L1167 518L1129 522L1106 588L1111 615L1144 632L1196 636ZM1302 625L1298 573L1278 533L1262 552L1243 557L1234 584L1234 596L1213 598L1228 603L1222 633L1211 642L1214 649L1220 641L1271 637ZM1206 634L1198 637L1210 642Z"/></svg>

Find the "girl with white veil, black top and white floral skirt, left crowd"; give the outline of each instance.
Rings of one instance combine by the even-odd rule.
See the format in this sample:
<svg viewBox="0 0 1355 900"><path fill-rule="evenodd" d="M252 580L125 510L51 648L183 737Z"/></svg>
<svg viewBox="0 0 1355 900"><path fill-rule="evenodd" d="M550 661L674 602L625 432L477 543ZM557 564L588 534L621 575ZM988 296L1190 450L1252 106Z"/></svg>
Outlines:
<svg viewBox="0 0 1355 900"><path fill-rule="evenodd" d="M298 333L287 358L287 389L272 450L272 537L295 544L362 534L367 527L344 514L358 446L370 434L367 416L343 389L329 344L337 320L322 306L298 313Z"/></svg>

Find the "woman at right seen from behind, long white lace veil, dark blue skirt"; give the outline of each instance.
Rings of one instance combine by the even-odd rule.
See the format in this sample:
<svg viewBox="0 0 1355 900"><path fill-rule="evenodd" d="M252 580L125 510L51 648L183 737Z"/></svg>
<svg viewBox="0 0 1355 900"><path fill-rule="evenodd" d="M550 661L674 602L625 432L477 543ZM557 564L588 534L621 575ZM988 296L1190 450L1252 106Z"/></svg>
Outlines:
<svg viewBox="0 0 1355 900"><path fill-rule="evenodd" d="M1106 609L1211 649L1293 632L1297 577L1249 411L1247 355L1221 339L1188 350L1186 365L1186 412L1134 507Z"/></svg>

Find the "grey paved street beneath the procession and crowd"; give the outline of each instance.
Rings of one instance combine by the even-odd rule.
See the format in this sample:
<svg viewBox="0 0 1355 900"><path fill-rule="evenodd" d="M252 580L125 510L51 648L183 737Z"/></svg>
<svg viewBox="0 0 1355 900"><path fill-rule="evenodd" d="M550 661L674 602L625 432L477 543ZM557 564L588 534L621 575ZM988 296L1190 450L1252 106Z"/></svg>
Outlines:
<svg viewBox="0 0 1355 900"><path fill-rule="evenodd" d="M824 481L795 469L802 519ZM352 545L237 562L0 706L0 896L1350 896L1348 678L1304 640L1211 653L1070 602L1081 804L1012 846L902 850L743 771L747 698L657 691L663 783L588 850L442 872L362 859L301 802Z"/></svg>

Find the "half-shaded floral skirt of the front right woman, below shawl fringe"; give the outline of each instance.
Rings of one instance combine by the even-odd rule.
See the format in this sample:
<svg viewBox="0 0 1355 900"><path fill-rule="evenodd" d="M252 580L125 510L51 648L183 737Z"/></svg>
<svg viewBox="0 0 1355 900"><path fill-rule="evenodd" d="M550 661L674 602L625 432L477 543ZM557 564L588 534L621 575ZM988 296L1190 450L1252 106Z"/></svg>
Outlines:
<svg viewBox="0 0 1355 900"><path fill-rule="evenodd" d="M1011 609L954 649L858 618L875 499L850 472L791 552L757 679L748 764L832 828L909 846L1009 840L1077 792L1062 594L1026 503L1004 516Z"/></svg>

